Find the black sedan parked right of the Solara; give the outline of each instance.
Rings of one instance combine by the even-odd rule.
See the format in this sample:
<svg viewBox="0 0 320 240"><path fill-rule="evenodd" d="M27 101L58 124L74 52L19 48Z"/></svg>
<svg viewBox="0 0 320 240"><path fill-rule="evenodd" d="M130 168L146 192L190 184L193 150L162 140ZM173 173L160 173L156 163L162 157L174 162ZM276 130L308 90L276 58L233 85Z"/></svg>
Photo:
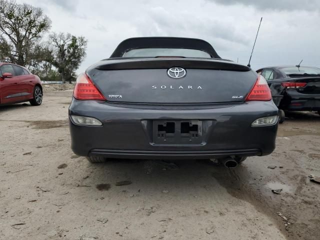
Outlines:
<svg viewBox="0 0 320 240"><path fill-rule="evenodd" d="M320 114L320 68L271 66L258 69L267 81L284 120L284 110L317 111Z"/></svg>

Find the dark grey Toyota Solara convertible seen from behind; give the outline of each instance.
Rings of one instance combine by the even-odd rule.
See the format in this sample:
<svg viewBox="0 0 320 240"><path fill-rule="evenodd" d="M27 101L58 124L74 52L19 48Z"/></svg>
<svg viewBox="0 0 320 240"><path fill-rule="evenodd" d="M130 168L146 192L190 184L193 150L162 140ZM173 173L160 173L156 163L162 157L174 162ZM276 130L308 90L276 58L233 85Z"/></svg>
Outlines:
<svg viewBox="0 0 320 240"><path fill-rule="evenodd" d="M71 146L105 158L214 158L270 154L278 109L265 79L221 59L206 41L142 37L78 76Z"/></svg>

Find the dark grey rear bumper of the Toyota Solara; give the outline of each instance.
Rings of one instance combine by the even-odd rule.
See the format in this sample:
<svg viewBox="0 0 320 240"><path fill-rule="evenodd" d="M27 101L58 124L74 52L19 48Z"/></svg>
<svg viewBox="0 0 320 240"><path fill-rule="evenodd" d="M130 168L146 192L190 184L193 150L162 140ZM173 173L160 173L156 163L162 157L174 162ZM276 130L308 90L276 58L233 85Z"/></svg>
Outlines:
<svg viewBox="0 0 320 240"><path fill-rule="evenodd" d="M115 158L214 158L266 155L275 147L277 124L251 127L259 117L277 114L272 101L218 105L136 105L72 99L69 114L91 116L102 126L80 126L69 118L71 148L78 155ZM154 120L202 121L202 141L157 144Z"/></svg>

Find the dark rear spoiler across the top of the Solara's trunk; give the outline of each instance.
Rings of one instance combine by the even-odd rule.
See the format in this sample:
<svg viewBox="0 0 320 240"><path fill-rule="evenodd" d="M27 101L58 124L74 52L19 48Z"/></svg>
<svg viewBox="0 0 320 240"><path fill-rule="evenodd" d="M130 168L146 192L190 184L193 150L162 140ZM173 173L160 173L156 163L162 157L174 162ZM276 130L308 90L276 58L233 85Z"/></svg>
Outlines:
<svg viewBox="0 0 320 240"><path fill-rule="evenodd" d="M183 68L249 71L251 68L227 60L190 58L105 59L91 66L99 70L155 69L179 66Z"/></svg>

